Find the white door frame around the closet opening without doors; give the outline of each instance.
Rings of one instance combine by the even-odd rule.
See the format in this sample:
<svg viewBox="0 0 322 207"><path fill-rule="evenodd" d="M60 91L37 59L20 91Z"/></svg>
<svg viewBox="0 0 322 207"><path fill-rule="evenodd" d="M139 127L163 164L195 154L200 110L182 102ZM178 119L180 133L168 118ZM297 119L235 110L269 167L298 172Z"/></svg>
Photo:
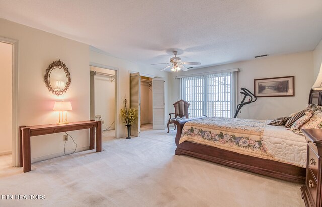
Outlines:
<svg viewBox="0 0 322 207"><path fill-rule="evenodd" d="M119 132L119 116L118 116L118 112L121 110L119 107L119 85L120 85L120 81L119 81L119 68L116 67L112 67L112 66L107 66L107 65L102 65L102 64L98 64L95 62L90 62L90 66L93 67L99 67L99 68L104 68L104 69L108 69L108 70L114 70L115 71L115 98L114 98L114 105L115 105L115 112L114 112L114 136L115 138L120 138L120 132Z"/></svg>

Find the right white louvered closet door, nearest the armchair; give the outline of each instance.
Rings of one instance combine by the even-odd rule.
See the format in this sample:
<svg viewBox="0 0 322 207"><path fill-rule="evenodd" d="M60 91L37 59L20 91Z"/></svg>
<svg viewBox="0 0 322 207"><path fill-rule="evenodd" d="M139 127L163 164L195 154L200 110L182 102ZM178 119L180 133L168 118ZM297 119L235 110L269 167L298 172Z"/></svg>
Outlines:
<svg viewBox="0 0 322 207"><path fill-rule="evenodd" d="M165 129L165 94L163 79L152 80L153 89L153 129Z"/></svg>

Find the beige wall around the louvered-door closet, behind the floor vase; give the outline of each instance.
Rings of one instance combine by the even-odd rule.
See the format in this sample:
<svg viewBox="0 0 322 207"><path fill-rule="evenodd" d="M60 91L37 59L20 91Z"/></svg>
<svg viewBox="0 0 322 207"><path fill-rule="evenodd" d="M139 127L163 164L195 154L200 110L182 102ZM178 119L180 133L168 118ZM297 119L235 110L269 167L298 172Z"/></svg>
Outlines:
<svg viewBox="0 0 322 207"><path fill-rule="evenodd" d="M122 99L124 99L124 97L129 97L129 72L140 72L141 75L147 76L147 75L151 75L151 76L155 76L155 77L160 77L165 79L166 83L165 83L165 102L166 102L166 112L168 111L168 105L167 103L168 101L168 72L164 72L164 71L159 71L156 69L152 69L150 67L146 67L143 65L138 65L136 63L124 60L124 59L120 59L120 58L116 58L116 57L112 57L110 55L105 54L102 51L99 51L97 49L90 49L90 62L91 64L98 64L98 65L103 65L106 68L111 68L111 69L115 69L117 70L116 74L117 74L117 87L118 87L118 97L117 97L117 101L118 101L118 105L115 107L115 110L118 113L118 125L119 125L119 130L116 134L118 134L118 138L119 137L126 137L126 126L122 121L122 118L120 117L120 110L123 107L123 102Z"/></svg>

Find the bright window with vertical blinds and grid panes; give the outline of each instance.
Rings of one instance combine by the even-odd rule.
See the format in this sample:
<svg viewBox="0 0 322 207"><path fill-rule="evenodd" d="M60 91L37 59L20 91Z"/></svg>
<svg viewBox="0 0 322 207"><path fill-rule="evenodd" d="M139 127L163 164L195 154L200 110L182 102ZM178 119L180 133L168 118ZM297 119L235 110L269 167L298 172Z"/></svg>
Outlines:
<svg viewBox="0 0 322 207"><path fill-rule="evenodd" d="M190 103L189 117L232 117L236 108L237 71L182 77L181 99Z"/></svg>

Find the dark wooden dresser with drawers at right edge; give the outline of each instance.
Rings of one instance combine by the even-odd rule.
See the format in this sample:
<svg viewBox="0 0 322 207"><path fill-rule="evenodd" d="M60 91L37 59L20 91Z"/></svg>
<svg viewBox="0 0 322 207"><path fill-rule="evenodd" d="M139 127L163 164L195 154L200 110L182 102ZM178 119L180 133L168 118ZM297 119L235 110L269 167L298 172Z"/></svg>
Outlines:
<svg viewBox="0 0 322 207"><path fill-rule="evenodd" d="M305 185L301 187L306 206L322 206L322 129L303 129L307 140Z"/></svg>

